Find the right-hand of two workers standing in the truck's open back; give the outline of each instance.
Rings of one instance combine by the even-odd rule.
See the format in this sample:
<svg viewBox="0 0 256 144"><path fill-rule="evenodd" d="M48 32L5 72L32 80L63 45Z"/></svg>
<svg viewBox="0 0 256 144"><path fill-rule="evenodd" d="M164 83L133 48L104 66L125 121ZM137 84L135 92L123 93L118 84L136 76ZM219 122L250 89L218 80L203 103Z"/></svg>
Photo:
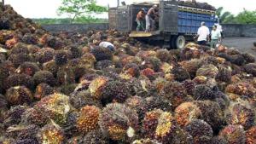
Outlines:
<svg viewBox="0 0 256 144"><path fill-rule="evenodd" d="M146 14L146 32L154 30L154 14L157 12L157 5L154 5Z"/></svg>

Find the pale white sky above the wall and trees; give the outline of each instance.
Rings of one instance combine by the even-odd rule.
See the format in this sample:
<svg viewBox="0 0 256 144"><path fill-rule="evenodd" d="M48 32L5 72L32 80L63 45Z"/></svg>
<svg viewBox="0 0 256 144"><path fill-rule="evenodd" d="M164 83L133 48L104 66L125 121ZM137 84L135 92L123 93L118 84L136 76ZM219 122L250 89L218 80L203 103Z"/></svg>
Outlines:
<svg viewBox="0 0 256 144"><path fill-rule="evenodd" d="M140 0L120 0L129 4ZM150 1L150 0L148 0ZM103 6L115 7L117 0L97 0ZM197 2L210 3L216 8L224 7L224 10L232 14L238 14L243 9L256 10L255 0L197 0ZM56 9L61 5L61 0L5 0L5 3L11 4L14 9L26 18L60 18ZM108 14L103 15L107 16Z"/></svg>

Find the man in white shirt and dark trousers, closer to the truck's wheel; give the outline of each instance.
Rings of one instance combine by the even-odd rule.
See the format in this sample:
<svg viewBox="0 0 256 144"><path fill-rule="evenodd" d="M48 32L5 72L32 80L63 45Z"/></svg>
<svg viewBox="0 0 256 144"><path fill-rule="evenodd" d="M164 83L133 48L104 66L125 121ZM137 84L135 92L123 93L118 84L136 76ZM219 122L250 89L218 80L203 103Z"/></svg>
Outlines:
<svg viewBox="0 0 256 144"><path fill-rule="evenodd" d="M197 37L197 43L200 45L206 45L207 41L209 41L210 39L209 35L210 35L210 30L206 26L206 23L201 22L201 27L198 29L197 35L195 36L195 38Z"/></svg>

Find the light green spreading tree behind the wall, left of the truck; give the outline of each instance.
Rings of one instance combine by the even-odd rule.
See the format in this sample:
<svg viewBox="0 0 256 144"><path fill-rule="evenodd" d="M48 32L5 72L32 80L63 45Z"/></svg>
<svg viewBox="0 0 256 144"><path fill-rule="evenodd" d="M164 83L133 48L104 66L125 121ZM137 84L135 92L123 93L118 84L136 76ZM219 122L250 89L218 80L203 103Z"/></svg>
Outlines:
<svg viewBox="0 0 256 144"><path fill-rule="evenodd" d="M108 8L97 5L96 0L62 0L57 13L70 15L71 22L73 22L84 14L91 17L90 14L101 14L106 11Z"/></svg>

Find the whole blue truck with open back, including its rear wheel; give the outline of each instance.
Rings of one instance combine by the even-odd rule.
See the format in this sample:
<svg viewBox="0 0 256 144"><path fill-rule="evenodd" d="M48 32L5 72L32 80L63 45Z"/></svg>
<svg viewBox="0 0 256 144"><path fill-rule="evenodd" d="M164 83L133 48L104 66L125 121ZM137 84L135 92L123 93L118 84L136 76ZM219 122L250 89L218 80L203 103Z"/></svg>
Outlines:
<svg viewBox="0 0 256 144"><path fill-rule="evenodd" d="M129 32L130 37L146 39L148 42L160 42L167 49L182 49L187 41L193 41L202 21L210 31L218 22L215 10L182 6L177 0L160 0L157 3L160 13L158 29L152 32L137 32L138 11L150 9L152 5L152 3L134 3L110 8L109 28Z"/></svg>

